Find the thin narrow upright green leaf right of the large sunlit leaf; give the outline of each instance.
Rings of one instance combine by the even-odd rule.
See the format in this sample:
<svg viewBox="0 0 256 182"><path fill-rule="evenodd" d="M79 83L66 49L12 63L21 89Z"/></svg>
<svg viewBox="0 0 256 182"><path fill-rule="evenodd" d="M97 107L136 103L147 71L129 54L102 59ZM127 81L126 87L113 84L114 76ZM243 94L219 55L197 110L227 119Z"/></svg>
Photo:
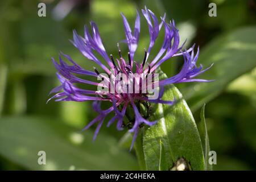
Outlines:
<svg viewBox="0 0 256 182"><path fill-rule="evenodd" d="M208 138L208 133L207 133L207 125L205 123L205 118L204 118L204 109L205 109L205 104L203 105L201 109L201 121L197 123L197 128L199 130L202 146L203 146L203 151L204 151L204 161L205 161L205 171L212 171L212 165L209 164L209 151L210 151L210 144L209 144L209 138Z"/></svg>

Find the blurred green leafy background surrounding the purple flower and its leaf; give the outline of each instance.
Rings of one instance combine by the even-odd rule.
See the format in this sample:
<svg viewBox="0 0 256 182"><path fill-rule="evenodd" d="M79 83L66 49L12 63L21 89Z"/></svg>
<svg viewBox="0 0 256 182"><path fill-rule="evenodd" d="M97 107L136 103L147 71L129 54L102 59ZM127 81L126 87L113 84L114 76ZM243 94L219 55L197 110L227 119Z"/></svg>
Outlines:
<svg viewBox="0 0 256 182"><path fill-rule="evenodd" d="M47 5L38 16L38 3ZM208 5L217 5L217 17ZM256 1L254 0L84 0L0 2L0 169L79 170L139 169L130 137L115 126L103 126L95 142L93 129L81 132L96 113L91 102L46 104L57 86L51 57L60 51L82 67L92 69L72 46L72 30L82 35L84 24L97 23L107 52L117 55L116 44L125 39L120 12L134 23L135 9L144 5L158 16L167 14L179 28L187 48L200 46L198 63L208 67L201 77L215 82L176 85L199 121L207 103L210 148L217 152L218 170L256 169ZM146 21L137 59L142 59L149 36ZM162 45L163 32L151 56ZM122 45L123 52L127 48ZM150 56L150 57L151 57ZM179 71L182 60L166 61L168 76ZM46 165L38 164L38 151L46 151Z"/></svg>

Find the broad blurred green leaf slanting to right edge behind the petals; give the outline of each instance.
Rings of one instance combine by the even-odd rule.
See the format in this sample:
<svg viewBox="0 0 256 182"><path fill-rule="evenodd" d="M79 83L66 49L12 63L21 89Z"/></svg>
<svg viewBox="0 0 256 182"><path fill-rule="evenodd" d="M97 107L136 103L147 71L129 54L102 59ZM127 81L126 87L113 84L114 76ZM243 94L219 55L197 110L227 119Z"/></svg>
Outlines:
<svg viewBox="0 0 256 182"><path fill-rule="evenodd" d="M256 27L240 28L214 39L201 51L198 63L205 68L214 65L200 77L216 81L195 82L181 88L192 111L218 96L232 80L256 67L255 32Z"/></svg>

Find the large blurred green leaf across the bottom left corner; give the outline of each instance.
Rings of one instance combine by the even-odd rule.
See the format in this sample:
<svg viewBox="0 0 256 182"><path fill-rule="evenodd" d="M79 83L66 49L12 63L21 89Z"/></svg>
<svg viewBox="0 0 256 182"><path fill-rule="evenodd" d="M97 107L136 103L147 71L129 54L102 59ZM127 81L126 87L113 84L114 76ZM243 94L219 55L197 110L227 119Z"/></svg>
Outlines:
<svg viewBox="0 0 256 182"><path fill-rule="evenodd" d="M63 122L39 117L5 117L0 120L0 155L32 170L133 170L131 154L117 141L92 131L81 133ZM46 152L46 165L38 164L38 152Z"/></svg>

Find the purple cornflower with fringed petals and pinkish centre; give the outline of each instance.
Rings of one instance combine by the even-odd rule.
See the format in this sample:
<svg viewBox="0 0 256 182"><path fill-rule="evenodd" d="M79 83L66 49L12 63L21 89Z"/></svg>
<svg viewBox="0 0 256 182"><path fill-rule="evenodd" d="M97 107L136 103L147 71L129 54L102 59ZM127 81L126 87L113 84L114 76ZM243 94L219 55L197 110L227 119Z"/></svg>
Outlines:
<svg viewBox="0 0 256 182"><path fill-rule="evenodd" d="M84 130L86 130L89 129L90 126L97 124L93 139L97 137L106 115L110 113L113 113L114 116L108 121L107 126L112 125L116 121L117 129L124 129L125 116L129 118L129 114L127 115L127 108L130 107L134 112L134 118L130 119L131 125L129 129L131 133L134 133L131 148L133 147L139 128L143 125L152 126L157 122L148 121L147 117L141 114L139 111L140 104L146 103L146 105L148 105L150 103L161 103L172 105L175 101L164 101L161 99L164 94L165 85L180 82L210 81L195 78L197 75L207 71L210 67L204 70L202 65L200 65L200 67L196 67L196 61L199 56L199 48L197 49L196 55L194 55L193 51L194 46L189 48L187 51L181 51L184 44L179 47L179 31L175 26L174 20L168 23L166 22L164 15L159 21L155 14L146 7L144 10L142 10L142 14L144 18L146 18L150 34L150 43L147 51L145 49L142 63L138 63L135 61L136 59L134 59L134 53L138 47L139 33L141 30L140 15L138 11L133 31L131 30L125 15L122 14L126 36L125 43L129 48L127 59L122 56L119 44L118 59L114 59L112 55L108 56L108 53L106 53L103 46L98 27L94 22L90 23L92 34L90 34L88 27L86 26L84 28L84 37L77 35L76 31L73 31L73 45L79 49L86 59L97 63L98 66L104 70L105 74L100 74L97 68L94 68L94 72L83 69L80 67L80 65L76 64L71 57L65 55L64 53L60 53L59 63L52 59L53 64L58 71L57 78L59 78L61 85L57 86L51 91L51 93L56 94L49 98L49 100L54 98L55 101L94 101L93 109L98 113L98 116L84 128ZM164 40L162 47L156 56L150 61L150 63L147 63L148 56L151 49L154 47L155 40L158 38L162 27L164 27ZM99 55L103 58L103 60L105 60L106 63L102 63L102 61L97 58ZM183 56L184 58L184 64L181 71L173 77L158 81L157 74L155 73L156 69L159 68L164 61L169 60L174 56ZM62 57L64 57L69 64L63 61ZM126 78L117 78L121 73L122 75L126 76ZM85 80L84 78L80 78L75 74L94 77L95 81ZM99 82L98 80L101 81ZM143 87L143 82L146 83L146 89ZM77 83L95 85L103 90L81 89L75 85ZM121 84L121 86L119 85L116 87L118 84ZM151 93L147 90L148 86L151 86L153 90L159 90L157 98L151 98ZM112 90L113 87L114 91ZM110 106L109 109L102 110L102 101L111 102L112 106Z"/></svg>

